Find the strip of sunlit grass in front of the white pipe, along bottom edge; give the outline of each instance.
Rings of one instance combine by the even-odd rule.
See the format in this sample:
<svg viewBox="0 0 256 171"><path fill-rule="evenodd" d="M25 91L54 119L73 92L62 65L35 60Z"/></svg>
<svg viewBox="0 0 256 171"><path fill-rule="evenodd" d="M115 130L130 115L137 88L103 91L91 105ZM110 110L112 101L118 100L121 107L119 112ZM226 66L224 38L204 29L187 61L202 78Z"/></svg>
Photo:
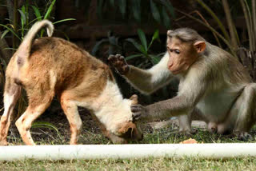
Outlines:
<svg viewBox="0 0 256 171"><path fill-rule="evenodd" d="M203 160L197 158L148 158L132 160L12 161L1 170L255 170L256 158Z"/></svg>

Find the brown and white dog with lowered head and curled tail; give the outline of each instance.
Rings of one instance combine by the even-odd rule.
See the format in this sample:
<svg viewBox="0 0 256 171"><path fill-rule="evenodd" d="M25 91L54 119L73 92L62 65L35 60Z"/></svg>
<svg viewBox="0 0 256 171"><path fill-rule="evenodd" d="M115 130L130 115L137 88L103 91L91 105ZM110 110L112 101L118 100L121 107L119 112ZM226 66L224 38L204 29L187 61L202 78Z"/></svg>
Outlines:
<svg viewBox="0 0 256 171"><path fill-rule="evenodd" d="M73 43L61 38L34 40L44 26L49 36L53 34L51 22L35 23L7 66L0 145L7 145L10 116L22 87L26 89L29 106L16 126L26 145L34 145L31 124L50 105L54 95L70 122L71 145L77 144L82 128L78 106L90 109L102 132L114 143L142 139L130 111L137 96L123 99L109 67Z"/></svg>

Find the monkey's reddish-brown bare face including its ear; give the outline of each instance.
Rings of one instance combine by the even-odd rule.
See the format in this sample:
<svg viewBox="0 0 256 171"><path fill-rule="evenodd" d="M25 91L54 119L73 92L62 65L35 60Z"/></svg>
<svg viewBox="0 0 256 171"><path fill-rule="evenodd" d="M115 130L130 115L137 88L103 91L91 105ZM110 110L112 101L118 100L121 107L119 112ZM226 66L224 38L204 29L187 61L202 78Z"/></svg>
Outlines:
<svg viewBox="0 0 256 171"><path fill-rule="evenodd" d="M202 47L204 45L204 48ZM200 47L198 47L198 45ZM168 69L173 74L181 74L188 70L198 59L198 53L205 50L205 42L182 42L179 38L167 38L169 54ZM199 50L198 50L199 48Z"/></svg>

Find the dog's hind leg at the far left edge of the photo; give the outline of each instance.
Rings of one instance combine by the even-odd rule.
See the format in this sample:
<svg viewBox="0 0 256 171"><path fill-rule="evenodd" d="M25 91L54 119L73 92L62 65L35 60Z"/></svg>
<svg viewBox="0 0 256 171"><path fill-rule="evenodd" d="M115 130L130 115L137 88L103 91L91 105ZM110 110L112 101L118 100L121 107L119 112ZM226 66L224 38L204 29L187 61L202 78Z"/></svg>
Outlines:
<svg viewBox="0 0 256 171"><path fill-rule="evenodd" d="M4 113L0 121L0 145L7 145L6 137L10 126L10 117L14 113L14 107L20 97L21 86L14 83L10 78L6 78L4 93Z"/></svg>

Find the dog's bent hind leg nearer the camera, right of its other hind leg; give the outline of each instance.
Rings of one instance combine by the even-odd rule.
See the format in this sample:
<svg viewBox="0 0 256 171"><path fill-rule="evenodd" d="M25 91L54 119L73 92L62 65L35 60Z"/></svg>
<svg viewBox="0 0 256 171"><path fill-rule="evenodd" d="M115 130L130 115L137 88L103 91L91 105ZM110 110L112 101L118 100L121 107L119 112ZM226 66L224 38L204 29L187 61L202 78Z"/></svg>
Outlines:
<svg viewBox="0 0 256 171"><path fill-rule="evenodd" d="M35 145L31 137L30 128L33 121L38 118L53 100L54 93L49 91L43 91L43 94L38 94L38 90L28 92L29 106L25 113L16 121L18 132L20 133L22 140L26 145Z"/></svg>

